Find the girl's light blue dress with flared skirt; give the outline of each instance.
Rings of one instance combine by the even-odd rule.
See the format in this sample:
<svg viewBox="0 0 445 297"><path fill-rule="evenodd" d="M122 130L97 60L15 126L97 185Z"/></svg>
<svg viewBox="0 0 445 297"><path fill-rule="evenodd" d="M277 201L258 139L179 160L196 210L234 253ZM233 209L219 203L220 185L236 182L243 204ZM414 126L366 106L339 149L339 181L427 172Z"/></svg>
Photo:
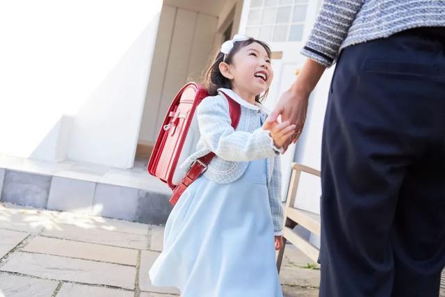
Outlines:
<svg viewBox="0 0 445 297"><path fill-rule="evenodd" d="M181 297L282 297L266 182L261 159L232 183L201 175L188 186L165 224L152 284Z"/></svg>

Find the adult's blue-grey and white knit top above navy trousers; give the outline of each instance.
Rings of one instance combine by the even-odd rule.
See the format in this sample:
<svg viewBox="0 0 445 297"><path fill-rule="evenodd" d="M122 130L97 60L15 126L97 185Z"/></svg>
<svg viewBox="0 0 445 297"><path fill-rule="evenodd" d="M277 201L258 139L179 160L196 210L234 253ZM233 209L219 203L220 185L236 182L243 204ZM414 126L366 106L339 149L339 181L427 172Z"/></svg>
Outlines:
<svg viewBox="0 0 445 297"><path fill-rule="evenodd" d="M323 0L301 54L330 67L349 45L421 26L445 30L445 0Z"/></svg>

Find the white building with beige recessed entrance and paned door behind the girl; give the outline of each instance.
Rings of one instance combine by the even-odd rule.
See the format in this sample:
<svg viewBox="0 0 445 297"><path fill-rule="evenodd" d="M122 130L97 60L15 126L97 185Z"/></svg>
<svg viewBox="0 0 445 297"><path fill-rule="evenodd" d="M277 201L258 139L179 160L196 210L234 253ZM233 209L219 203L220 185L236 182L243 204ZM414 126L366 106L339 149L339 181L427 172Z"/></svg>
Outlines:
<svg viewBox="0 0 445 297"><path fill-rule="evenodd" d="M15 1L0 9L0 154L132 168L153 145L186 81L200 81L222 42L245 33L268 42L273 106L305 61L299 54L321 0ZM19 17L17 17L19 16ZM332 67L333 68L333 67ZM312 93L297 145L283 159L320 169L332 68ZM302 177L302 179L305 177ZM302 197L320 195L305 181ZM283 189L285 198L287 186ZM298 207L319 212L317 199Z"/></svg>

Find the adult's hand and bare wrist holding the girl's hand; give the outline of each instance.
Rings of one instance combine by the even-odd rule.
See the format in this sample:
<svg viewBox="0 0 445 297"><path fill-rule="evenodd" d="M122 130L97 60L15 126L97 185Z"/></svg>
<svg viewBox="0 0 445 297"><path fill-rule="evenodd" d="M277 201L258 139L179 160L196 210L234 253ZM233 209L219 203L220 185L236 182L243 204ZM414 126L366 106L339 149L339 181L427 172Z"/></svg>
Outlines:
<svg viewBox="0 0 445 297"><path fill-rule="evenodd" d="M270 122L276 121L278 116L281 115L282 122L289 121L296 125L295 133L283 145L284 150L287 150L292 141L296 143L300 137L305 126L309 95L311 95L325 69L324 65L307 58L296 81L293 82L289 90L281 95L275 109L268 116L267 120Z"/></svg>

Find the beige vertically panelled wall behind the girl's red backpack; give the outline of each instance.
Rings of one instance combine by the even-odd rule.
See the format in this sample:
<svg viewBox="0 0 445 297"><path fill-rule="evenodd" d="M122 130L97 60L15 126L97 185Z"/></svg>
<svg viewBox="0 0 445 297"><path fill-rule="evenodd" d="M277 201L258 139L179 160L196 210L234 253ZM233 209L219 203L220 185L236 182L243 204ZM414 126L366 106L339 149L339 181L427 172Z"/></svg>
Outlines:
<svg viewBox="0 0 445 297"><path fill-rule="evenodd" d="M217 17L164 5L139 143L156 141L165 113L186 81L201 81L213 51Z"/></svg>

